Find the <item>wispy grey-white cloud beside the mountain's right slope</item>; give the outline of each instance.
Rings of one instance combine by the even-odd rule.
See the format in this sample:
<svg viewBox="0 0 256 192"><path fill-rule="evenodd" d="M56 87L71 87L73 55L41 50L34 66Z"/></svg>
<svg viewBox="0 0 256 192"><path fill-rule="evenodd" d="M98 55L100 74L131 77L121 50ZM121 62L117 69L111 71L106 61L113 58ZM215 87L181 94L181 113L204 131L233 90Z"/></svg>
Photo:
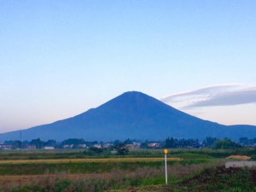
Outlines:
<svg viewBox="0 0 256 192"><path fill-rule="evenodd" d="M240 105L256 102L256 85L218 84L165 96L166 103L183 102L183 108Z"/></svg>

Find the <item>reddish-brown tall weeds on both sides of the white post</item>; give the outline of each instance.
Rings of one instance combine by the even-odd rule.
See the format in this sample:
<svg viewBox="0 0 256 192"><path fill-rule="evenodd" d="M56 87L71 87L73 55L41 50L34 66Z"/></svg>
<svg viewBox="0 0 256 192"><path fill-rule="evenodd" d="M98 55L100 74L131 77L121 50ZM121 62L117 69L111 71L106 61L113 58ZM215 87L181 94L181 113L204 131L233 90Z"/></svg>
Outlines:
<svg viewBox="0 0 256 192"><path fill-rule="evenodd" d="M195 172L209 167L209 164L182 165L174 164L168 166L169 182L178 183L182 178L192 177ZM131 167L130 167L131 168ZM12 180L13 177L13 180ZM14 179L17 176L9 177L9 180L1 178L0 191L4 192L102 192L119 189L135 189L140 186L161 185L165 183L163 166L136 166L131 169L113 169L105 173L70 173L57 172L44 173L41 176L26 176L26 179ZM158 190L155 190L158 191Z"/></svg>

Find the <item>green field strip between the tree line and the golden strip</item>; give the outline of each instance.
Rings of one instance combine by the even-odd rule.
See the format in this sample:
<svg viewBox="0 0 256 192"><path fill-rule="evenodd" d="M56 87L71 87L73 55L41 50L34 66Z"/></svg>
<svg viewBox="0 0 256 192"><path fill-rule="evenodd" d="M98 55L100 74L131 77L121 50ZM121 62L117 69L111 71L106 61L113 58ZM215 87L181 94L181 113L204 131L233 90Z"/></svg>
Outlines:
<svg viewBox="0 0 256 192"><path fill-rule="evenodd" d="M202 154L212 158L224 158L232 154L241 154L253 156L256 155L256 149L241 148L238 150L210 148L169 148L168 156L178 156L184 154ZM125 157L162 157L163 149L132 149ZM208 158L205 156L206 158ZM89 153L88 149L55 149L55 150L14 150L0 151L0 160L50 160L50 159L78 159L78 158L113 158L119 155L113 155L110 151L102 154Z"/></svg>

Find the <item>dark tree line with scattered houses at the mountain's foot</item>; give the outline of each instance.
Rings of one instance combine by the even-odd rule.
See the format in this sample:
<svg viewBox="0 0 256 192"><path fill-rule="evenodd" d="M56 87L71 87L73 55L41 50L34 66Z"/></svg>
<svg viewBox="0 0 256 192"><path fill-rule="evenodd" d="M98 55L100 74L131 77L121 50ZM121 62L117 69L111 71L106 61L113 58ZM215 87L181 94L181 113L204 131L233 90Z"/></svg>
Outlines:
<svg viewBox="0 0 256 192"><path fill-rule="evenodd" d="M103 142L88 142L84 141L83 138L69 138L62 142L56 142L53 139L50 139L46 142L42 141L40 138L32 139L30 142L20 140L15 141L5 141L3 144L11 146L10 148L44 148L44 147L54 147L54 148L94 148L93 150L97 153L100 153L102 148L110 148L118 146L119 144L131 145L132 143L140 143L140 148L241 148L243 146L253 146L256 144L256 138L249 139L247 137L241 137L239 142L233 142L230 138L218 139L216 137L206 137L202 142L199 142L198 139L177 139L173 137L167 137L165 141L162 142L152 142L152 141L137 141L126 139L124 142L115 140L109 142L107 147L104 147L106 143ZM152 147L150 143L155 143L155 146ZM95 147L96 146L96 147Z"/></svg>

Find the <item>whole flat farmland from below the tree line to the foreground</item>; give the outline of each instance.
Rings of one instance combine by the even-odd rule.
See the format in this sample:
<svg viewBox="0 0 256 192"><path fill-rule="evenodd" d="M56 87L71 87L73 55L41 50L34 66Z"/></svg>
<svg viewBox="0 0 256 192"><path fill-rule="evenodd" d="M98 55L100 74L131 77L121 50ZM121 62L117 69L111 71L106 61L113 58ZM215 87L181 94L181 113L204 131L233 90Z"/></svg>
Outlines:
<svg viewBox="0 0 256 192"><path fill-rule="evenodd" d="M238 155L240 154L240 155ZM0 191L256 191L254 168L224 168L254 151L133 150L128 155L89 156L83 151L0 151Z"/></svg>

